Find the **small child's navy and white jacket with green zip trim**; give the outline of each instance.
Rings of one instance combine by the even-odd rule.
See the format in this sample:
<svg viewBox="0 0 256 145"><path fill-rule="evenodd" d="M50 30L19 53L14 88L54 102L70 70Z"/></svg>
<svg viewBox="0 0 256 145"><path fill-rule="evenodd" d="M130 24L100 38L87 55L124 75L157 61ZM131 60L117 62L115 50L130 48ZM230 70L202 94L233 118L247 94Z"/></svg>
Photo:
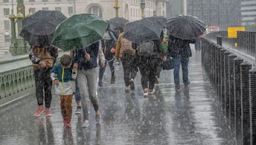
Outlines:
<svg viewBox="0 0 256 145"><path fill-rule="evenodd" d="M61 64L57 64L51 70L51 79L58 79L59 85L55 85L55 92L59 95L72 95L76 92L77 71L72 67L63 68Z"/></svg>

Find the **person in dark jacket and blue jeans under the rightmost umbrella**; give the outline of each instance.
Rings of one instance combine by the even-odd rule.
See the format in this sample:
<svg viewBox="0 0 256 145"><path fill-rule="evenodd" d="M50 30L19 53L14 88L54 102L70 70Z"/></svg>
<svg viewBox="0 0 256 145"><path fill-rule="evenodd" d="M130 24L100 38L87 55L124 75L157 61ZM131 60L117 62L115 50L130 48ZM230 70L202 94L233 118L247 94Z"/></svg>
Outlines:
<svg viewBox="0 0 256 145"><path fill-rule="evenodd" d="M168 50L170 52L170 56L173 57L174 62L173 76L176 90L180 89L180 64L182 66L182 77L185 88L189 85L188 62L189 57L192 57L189 43L195 43L195 39L179 39L174 38L172 35L170 35L168 39Z"/></svg>

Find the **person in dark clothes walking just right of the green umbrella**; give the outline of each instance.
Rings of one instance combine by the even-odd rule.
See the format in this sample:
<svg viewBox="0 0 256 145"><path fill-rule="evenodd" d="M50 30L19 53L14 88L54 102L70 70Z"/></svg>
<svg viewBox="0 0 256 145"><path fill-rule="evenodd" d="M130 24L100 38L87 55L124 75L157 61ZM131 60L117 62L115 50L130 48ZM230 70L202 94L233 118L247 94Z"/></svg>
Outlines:
<svg viewBox="0 0 256 145"><path fill-rule="evenodd" d="M113 34L113 32L110 31L109 29L109 24L108 28L106 29L106 32L103 36L102 39L102 50L105 55L106 62L109 64L109 68L111 71L111 84L115 83L115 67L114 67L114 57L115 57L115 47L116 47L116 37ZM99 86L103 86L102 84L102 79L104 76L104 72L106 71L106 67L101 67L102 65L99 62L100 70L99 70Z"/></svg>

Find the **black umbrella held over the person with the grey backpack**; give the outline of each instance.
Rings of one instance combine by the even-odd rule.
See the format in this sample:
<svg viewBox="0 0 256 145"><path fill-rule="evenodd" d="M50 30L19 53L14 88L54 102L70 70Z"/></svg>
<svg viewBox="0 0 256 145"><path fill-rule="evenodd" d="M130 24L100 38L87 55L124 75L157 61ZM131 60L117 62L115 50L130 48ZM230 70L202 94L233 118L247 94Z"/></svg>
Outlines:
<svg viewBox="0 0 256 145"><path fill-rule="evenodd" d="M160 39L163 25L143 18L130 22L125 26L124 38L129 39L134 43L142 43L147 40Z"/></svg>

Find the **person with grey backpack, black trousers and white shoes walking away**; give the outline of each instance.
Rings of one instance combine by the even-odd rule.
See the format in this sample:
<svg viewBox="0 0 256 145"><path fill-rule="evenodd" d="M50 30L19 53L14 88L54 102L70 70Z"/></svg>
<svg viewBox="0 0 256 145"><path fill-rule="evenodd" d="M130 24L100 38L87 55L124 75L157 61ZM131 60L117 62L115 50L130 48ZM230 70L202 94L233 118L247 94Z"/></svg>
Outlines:
<svg viewBox="0 0 256 145"><path fill-rule="evenodd" d="M132 43L132 47L136 48L136 55L138 56L137 62L141 73L143 95L147 96L148 93L153 95L155 92L157 66L161 61L166 60L161 41L143 41L140 45Z"/></svg>

